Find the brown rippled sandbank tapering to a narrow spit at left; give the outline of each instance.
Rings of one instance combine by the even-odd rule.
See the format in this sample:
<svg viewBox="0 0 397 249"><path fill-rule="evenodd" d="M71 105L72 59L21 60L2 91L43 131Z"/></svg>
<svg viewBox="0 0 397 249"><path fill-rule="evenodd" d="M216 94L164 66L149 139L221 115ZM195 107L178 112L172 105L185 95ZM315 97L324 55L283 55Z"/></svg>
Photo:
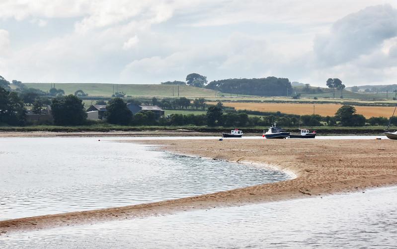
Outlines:
<svg viewBox="0 0 397 249"><path fill-rule="evenodd" d="M131 142L131 141L124 141ZM136 142L136 141L134 141ZM296 174L293 180L195 197L66 214L1 221L1 231L161 215L397 184L397 143L393 140L146 140L160 149L232 162L267 164Z"/></svg>

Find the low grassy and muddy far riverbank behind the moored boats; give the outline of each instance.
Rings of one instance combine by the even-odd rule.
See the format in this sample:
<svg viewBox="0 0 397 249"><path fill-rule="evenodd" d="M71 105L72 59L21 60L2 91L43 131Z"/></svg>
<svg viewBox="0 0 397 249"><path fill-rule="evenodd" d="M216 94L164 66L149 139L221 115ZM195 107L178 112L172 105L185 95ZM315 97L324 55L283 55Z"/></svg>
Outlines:
<svg viewBox="0 0 397 249"><path fill-rule="evenodd" d="M207 126L121 126L121 125L91 125L91 126L0 126L0 136L202 136L219 135L235 127ZM261 135L267 127L236 127L246 135ZM284 127L286 130L298 132L296 127ZM318 135L380 135L384 126L339 127L317 126L307 127L316 130ZM391 127L391 129L397 127Z"/></svg>

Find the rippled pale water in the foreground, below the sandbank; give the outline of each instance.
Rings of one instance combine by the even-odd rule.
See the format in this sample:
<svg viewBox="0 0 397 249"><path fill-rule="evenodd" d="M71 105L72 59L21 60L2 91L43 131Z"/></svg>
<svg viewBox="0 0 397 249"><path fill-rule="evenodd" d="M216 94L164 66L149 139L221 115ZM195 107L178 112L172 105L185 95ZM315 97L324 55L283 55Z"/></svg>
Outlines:
<svg viewBox="0 0 397 249"><path fill-rule="evenodd" d="M9 234L30 248L396 248L397 187ZM0 241L1 242L1 241Z"/></svg>

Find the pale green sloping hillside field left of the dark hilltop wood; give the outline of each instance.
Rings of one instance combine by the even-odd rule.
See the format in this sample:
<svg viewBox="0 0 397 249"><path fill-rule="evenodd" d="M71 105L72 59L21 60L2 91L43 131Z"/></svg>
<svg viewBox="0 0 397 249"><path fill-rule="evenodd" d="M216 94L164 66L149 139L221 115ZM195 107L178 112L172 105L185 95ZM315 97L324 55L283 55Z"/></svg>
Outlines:
<svg viewBox="0 0 397 249"><path fill-rule="evenodd" d="M24 83L27 87L49 91L50 83ZM175 85L140 85L140 84L100 84L100 83L55 83L55 88L62 89L65 94L74 94L82 90L89 96L110 97L114 92L124 92L132 97L177 97L178 87ZM216 97L219 92L192 86L179 86L179 97Z"/></svg>

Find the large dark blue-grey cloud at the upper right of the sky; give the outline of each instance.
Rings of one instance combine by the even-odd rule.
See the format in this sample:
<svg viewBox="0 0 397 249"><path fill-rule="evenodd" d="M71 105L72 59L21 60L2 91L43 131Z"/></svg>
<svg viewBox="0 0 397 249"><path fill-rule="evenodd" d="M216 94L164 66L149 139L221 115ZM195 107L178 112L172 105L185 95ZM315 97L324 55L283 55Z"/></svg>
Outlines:
<svg viewBox="0 0 397 249"><path fill-rule="evenodd" d="M329 34L318 35L314 52L318 62L337 65L371 54L397 36L397 10L391 5L367 7L335 22Z"/></svg>

